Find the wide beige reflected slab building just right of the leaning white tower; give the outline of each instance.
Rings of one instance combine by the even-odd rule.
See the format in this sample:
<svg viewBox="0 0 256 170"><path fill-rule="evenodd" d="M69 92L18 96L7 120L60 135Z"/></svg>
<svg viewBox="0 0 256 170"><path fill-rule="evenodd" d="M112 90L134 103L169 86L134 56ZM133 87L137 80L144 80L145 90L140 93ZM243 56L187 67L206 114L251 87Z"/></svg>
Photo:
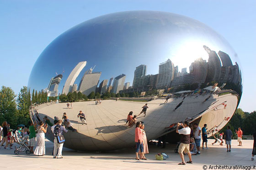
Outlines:
<svg viewBox="0 0 256 170"><path fill-rule="evenodd" d="M86 96L90 95L91 92L96 92L96 87L101 76L101 72L92 73L92 70L93 69L88 69L85 71L85 74L83 75L78 86L78 90Z"/></svg>

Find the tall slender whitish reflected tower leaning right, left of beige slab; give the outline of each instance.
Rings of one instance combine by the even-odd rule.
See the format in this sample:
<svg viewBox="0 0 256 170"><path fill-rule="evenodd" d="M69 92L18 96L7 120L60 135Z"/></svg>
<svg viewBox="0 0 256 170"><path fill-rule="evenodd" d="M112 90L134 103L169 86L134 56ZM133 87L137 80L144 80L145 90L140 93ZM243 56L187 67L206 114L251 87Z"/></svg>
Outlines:
<svg viewBox="0 0 256 170"><path fill-rule="evenodd" d="M63 87L62 94L67 95L69 92L72 91L72 87L75 83L75 80L77 76L80 74L80 72L82 71L82 69L85 67L85 65L86 65L86 61L82 61L78 63L75 66L75 68L71 71Z"/></svg>

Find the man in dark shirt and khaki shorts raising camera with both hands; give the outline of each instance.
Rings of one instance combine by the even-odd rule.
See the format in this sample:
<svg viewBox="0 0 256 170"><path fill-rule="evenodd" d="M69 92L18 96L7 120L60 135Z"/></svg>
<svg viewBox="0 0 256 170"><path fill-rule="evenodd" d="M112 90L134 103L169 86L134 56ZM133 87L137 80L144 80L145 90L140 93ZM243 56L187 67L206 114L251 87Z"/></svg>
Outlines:
<svg viewBox="0 0 256 170"><path fill-rule="evenodd" d="M179 126L182 126L181 129L179 129ZM189 161L187 161L188 164L192 164L192 157L189 151L189 143L190 143L190 131L189 128L189 122L185 121L184 125L182 123L177 123L176 133L181 134L181 144L179 146L178 152L180 154L182 162L178 165L186 165L184 160L184 154L183 152L188 155Z"/></svg>

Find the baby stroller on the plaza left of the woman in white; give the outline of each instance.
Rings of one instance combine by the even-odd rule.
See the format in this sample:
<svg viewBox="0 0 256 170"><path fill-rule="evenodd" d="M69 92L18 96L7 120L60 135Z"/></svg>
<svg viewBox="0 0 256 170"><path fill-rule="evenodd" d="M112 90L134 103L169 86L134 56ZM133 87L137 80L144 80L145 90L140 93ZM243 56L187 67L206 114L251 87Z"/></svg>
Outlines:
<svg viewBox="0 0 256 170"><path fill-rule="evenodd" d="M16 143L18 143L20 146L15 147L14 154L19 154L20 152L26 152L26 154L30 154L30 149L26 145L26 142L28 141L29 136L24 136L23 138L20 138L18 135L18 132L15 132L15 140Z"/></svg>

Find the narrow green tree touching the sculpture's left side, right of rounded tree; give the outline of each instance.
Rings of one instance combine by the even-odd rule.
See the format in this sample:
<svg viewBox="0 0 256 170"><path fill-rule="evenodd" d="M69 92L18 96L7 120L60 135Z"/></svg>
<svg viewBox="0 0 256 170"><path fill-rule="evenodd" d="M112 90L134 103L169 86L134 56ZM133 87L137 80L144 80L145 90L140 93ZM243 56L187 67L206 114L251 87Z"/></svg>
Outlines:
<svg viewBox="0 0 256 170"><path fill-rule="evenodd" d="M27 122L30 120L28 107L29 107L29 101L27 98L27 87L23 86L17 98L17 108L18 108L17 123L18 124L27 124Z"/></svg>

